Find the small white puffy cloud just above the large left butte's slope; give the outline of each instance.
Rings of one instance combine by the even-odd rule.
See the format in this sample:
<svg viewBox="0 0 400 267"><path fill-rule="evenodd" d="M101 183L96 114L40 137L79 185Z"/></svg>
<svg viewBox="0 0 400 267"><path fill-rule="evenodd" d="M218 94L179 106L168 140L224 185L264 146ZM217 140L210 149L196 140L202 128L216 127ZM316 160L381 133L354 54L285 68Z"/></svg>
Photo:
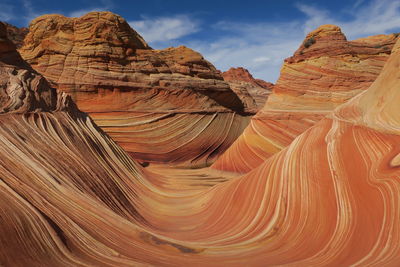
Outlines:
<svg viewBox="0 0 400 267"><path fill-rule="evenodd" d="M199 23L186 15L144 17L129 24L150 43L167 42L199 31Z"/></svg>

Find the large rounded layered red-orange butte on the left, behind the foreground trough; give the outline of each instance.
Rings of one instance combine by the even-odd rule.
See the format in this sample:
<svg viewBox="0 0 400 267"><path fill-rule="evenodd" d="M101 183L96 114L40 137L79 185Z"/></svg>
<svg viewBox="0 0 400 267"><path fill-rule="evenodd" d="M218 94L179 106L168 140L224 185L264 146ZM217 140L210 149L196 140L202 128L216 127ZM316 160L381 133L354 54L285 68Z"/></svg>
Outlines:
<svg viewBox="0 0 400 267"><path fill-rule="evenodd" d="M209 165L256 111L199 53L153 50L110 12L41 16L19 51L140 161Z"/></svg>

